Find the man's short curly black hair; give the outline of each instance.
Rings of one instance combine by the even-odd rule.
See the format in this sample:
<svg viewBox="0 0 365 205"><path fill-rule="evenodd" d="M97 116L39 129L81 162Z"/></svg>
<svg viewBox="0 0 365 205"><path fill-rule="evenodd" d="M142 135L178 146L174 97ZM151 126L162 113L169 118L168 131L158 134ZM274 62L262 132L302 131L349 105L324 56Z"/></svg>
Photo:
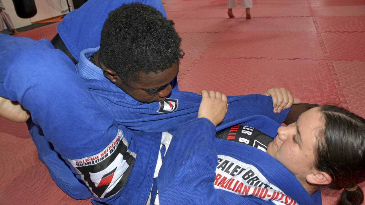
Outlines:
<svg viewBox="0 0 365 205"><path fill-rule="evenodd" d="M101 31L102 62L126 82L137 82L139 71L168 69L184 55L173 25L149 5L122 5L109 13Z"/></svg>

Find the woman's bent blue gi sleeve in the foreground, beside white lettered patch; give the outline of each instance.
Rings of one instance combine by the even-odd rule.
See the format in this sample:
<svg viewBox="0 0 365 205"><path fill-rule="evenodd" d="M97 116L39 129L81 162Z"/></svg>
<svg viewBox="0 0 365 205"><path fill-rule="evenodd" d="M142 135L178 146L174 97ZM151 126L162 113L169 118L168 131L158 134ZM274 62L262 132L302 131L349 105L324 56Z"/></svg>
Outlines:
<svg viewBox="0 0 365 205"><path fill-rule="evenodd" d="M192 120L174 132L157 178L160 204L266 203L215 189L214 138L215 127L206 118Z"/></svg>

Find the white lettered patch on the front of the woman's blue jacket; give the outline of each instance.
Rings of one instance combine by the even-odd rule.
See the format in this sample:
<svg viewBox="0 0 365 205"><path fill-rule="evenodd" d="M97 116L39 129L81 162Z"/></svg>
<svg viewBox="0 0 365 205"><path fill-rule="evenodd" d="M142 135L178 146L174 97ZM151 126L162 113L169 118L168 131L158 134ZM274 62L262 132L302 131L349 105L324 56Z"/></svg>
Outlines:
<svg viewBox="0 0 365 205"><path fill-rule="evenodd" d="M271 184L256 167L226 155L218 155L214 187L241 196L253 196L277 205L298 205Z"/></svg>

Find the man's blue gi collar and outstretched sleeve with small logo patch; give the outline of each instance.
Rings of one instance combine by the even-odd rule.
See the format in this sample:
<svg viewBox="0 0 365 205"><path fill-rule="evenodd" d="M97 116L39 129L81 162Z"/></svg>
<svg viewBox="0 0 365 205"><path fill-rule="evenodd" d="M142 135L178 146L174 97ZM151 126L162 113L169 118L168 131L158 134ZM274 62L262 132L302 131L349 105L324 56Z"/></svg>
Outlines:
<svg viewBox="0 0 365 205"><path fill-rule="evenodd" d="M181 122L197 117L201 96L196 93L182 92L177 88L176 81L172 82L172 91L165 102L175 103L174 109L162 114L161 107L170 108L165 102L149 104L138 102L104 77L103 71L88 60L99 48L85 49L81 52L76 65L78 76L90 89L97 104L111 113L119 124L130 129L145 132L174 131ZM260 94L246 96L228 96L229 108L223 122L217 131L231 125L241 123L241 119L251 115L264 115L277 123L282 123L289 109L274 113L272 98Z"/></svg>

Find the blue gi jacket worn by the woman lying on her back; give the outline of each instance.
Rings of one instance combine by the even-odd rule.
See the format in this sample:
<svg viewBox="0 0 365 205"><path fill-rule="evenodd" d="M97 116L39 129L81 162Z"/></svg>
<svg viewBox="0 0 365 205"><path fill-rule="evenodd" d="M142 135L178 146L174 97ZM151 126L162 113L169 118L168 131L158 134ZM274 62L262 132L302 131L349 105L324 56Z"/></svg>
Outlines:
<svg viewBox="0 0 365 205"><path fill-rule="evenodd" d="M280 126L261 115L242 122L271 137ZM187 138L191 133L194 136ZM310 196L266 152L215 138L215 127L207 119L191 120L176 130L157 186L160 204L322 204L320 191Z"/></svg>

